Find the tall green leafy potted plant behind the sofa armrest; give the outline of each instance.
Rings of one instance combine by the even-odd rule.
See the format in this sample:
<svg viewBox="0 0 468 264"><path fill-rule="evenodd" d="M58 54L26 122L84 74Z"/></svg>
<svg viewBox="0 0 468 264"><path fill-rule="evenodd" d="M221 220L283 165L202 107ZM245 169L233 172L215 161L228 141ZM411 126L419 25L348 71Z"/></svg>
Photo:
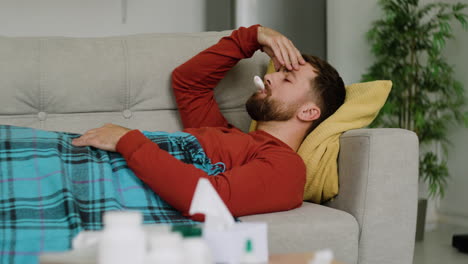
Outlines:
<svg viewBox="0 0 468 264"><path fill-rule="evenodd" d="M375 63L362 79L392 80L393 89L371 127L414 131L420 142L419 177L428 185L429 197L443 197L449 177L447 127L451 123L468 127L468 113L462 110L463 85L453 78L453 67L442 51L446 40L454 37L453 21L467 29L467 5L420 5L419 0L380 0L379 5L383 15L367 33ZM443 152L435 151L434 144ZM424 221L425 211L418 224ZM424 233L418 230L421 240Z"/></svg>

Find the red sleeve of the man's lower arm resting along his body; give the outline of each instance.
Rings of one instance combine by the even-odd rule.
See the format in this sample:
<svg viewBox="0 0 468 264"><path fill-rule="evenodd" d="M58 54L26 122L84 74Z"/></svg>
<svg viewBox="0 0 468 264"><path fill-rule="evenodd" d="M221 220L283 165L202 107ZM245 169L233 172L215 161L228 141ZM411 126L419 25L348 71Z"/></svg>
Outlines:
<svg viewBox="0 0 468 264"><path fill-rule="evenodd" d="M208 176L183 163L138 130L117 144L132 171L171 206L188 216L195 187L208 179L235 217L290 210L302 204L305 165L299 157L267 153L243 166ZM195 218L195 220L199 220Z"/></svg>

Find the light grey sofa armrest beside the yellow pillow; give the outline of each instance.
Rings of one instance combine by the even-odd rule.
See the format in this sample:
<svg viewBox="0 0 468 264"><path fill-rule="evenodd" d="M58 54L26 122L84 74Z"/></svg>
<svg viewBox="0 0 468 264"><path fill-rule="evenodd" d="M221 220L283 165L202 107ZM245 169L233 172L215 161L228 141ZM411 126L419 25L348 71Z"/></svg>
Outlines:
<svg viewBox="0 0 468 264"><path fill-rule="evenodd" d="M418 157L409 130L357 129L340 137L339 195L326 205L356 218L358 263L412 263Z"/></svg>

